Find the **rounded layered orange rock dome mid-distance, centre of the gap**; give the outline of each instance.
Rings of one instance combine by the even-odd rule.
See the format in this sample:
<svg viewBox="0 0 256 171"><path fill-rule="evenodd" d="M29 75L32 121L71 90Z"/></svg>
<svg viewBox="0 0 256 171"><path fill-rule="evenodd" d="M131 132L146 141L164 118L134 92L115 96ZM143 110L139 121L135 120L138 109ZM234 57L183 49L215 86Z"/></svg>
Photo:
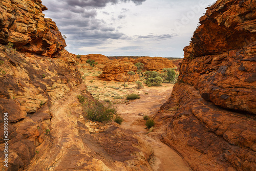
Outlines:
<svg viewBox="0 0 256 171"><path fill-rule="evenodd" d="M134 81L139 79L139 76L132 75L127 76L127 72L133 71L136 72L137 67L132 62L127 61L112 61L108 63L103 69L103 73L99 76L104 80L116 80L116 81ZM128 79L130 78L130 79Z"/></svg>

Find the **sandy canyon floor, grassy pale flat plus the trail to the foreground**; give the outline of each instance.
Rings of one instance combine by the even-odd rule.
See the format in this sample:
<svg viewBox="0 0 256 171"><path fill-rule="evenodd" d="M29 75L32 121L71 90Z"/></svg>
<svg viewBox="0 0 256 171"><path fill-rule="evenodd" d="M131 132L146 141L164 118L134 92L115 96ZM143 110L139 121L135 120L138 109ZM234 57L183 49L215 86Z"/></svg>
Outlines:
<svg viewBox="0 0 256 171"><path fill-rule="evenodd" d="M96 67L92 70L80 69L80 72L83 73L83 82L86 83L88 91L99 101L112 103L118 114L124 118L121 127L132 130L151 143L154 156L150 163L154 170L191 170L179 154L160 141L160 132L154 132L153 129L153 132L149 133L143 116L138 115L139 113L149 117L154 115L169 98L174 84L163 83L161 87L150 88L144 85L144 89L136 89L135 82L128 82L128 87L124 89L123 82L100 80L98 75L102 71ZM141 98L126 100L126 95L131 93L139 94Z"/></svg>

